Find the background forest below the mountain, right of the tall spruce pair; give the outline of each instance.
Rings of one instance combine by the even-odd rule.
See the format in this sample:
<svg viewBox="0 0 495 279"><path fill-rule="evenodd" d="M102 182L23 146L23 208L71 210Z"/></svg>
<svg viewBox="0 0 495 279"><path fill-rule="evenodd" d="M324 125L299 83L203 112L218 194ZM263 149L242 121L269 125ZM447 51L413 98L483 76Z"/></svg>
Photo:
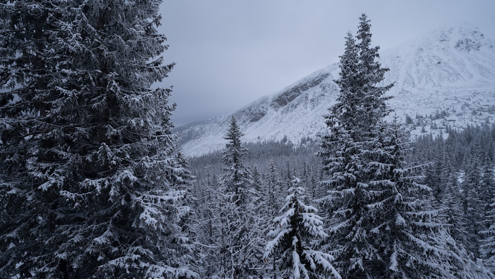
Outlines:
<svg viewBox="0 0 495 279"><path fill-rule="evenodd" d="M486 253L486 247L493 240L487 230L494 222L491 212L494 130L494 126L486 124L478 127L468 125L461 131L448 127L445 140L431 136L418 138L412 158L434 163L430 167L434 179L427 182L434 182L429 185L439 193L438 201L446 209L445 222L452 224L452 236L468 252L478 255L480 251L480 256L485 259L491 257ZM485 248L481 249L480 245ZM489 263L492 261L493 258Z"/></svg>

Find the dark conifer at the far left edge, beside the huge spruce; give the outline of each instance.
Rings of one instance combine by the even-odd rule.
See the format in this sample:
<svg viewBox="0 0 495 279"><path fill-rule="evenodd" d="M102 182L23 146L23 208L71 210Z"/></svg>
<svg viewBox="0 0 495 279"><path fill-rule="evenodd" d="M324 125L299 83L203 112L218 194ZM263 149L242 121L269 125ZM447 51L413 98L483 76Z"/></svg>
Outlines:
<svg viewBox="0 0 495 279"><path fill-rule="evenodd" d="M58 94L56 66L64 6L20 0L0 5L0 274L31 276L34 258L51 252L40 239L52 231L57 191L40 191L30 161L49 159L53 144L48 101ZM38 151L39 150L39 151Z"/></svg>

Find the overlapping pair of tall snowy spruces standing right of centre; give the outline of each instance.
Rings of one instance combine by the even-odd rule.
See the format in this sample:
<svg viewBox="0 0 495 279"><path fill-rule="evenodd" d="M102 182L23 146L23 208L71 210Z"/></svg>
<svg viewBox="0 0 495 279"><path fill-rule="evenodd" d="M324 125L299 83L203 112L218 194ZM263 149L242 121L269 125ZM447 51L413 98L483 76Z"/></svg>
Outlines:
<svg viewBox="0 0 495 279"><path fill-rule="evenodd" d="M393 84L376 86L388 69L375 60L365 14L356 38L347 34L341 94L325 116L329 132L319 152L330 175L319 199L329 234L324 251L344 278L470 278L467 254L429 210L430 189L418 183L415 167L404 166L407 133L384 121Z"/></svg>

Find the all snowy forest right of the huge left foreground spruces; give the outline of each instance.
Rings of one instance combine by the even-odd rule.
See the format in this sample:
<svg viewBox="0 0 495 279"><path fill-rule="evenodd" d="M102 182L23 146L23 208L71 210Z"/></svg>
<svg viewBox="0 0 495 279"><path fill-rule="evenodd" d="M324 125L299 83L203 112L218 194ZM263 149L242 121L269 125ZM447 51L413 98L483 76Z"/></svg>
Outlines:
<svg viewBox="0 0 495 279"><path fill-rule="evenodd" d="M190 159L204 276L493 277L494 126L386 121L393 84L374 85L387 69L360 20L327 133L242 144L232 117L225 150Z"/></svg>

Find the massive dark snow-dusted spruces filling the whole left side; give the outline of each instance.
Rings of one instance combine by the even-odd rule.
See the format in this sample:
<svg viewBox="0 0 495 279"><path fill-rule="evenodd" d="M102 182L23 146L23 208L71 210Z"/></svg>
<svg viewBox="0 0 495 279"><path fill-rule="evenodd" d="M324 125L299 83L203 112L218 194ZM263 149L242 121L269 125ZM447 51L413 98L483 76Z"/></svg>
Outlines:
<svg viewBox="0 0 495 279"><path fill-rule="evenodd" d="M2 277L197 276L159 4L0 5Z"/></svg>

